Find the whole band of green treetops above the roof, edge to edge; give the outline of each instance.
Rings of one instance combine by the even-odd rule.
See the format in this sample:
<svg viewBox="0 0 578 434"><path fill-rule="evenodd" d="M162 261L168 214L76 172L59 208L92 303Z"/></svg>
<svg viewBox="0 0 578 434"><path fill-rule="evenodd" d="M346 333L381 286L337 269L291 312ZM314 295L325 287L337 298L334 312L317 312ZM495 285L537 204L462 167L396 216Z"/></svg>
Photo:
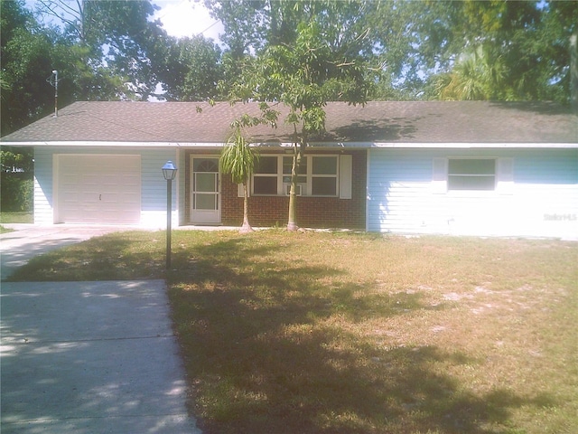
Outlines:
<svg viewBox="0 0 578 434"><path fill-rule="evenodd" d="M52 70L61 78L60 106L146 100L161 83L169 100L288 104L283 121L302 136L322 133L327 100L569 100L577 2L205 4L225 26L222 52L201 36L169 37L150 21L158 7L151 1L39 0L40 22L23 0L3 1L1 134L51 112ZM43 25L47 15L61 26ZM263 118L276 124L275 110Z"/></svg>

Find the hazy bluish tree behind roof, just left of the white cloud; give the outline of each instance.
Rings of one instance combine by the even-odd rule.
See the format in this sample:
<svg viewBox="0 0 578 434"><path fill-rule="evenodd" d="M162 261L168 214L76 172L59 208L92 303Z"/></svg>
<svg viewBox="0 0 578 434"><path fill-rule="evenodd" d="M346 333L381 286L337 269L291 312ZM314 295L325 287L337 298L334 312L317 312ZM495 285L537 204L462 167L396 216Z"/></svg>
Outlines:
<svg viewBox="0 0 578 434"><path fill-rule="evenodd" d="M166 34L148 20L156 8L150 1L39 0L37 11L61 21L78 61L94 72L96 83L85 83L81 89L88 91L80 99L146 100L156 85L150 61L155 40Z"/></svg>

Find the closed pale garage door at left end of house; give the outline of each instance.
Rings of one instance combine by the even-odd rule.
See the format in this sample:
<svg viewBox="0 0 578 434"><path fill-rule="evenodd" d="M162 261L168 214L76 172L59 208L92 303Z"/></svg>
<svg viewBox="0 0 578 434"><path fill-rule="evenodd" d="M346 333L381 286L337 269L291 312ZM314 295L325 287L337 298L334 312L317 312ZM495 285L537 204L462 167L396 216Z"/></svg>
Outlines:
<svg viewBox="0 0 578 434"><path fill-rule="evenodd" d="M57 171L58 222L140 222L140 156L57 156Z"/></svg>

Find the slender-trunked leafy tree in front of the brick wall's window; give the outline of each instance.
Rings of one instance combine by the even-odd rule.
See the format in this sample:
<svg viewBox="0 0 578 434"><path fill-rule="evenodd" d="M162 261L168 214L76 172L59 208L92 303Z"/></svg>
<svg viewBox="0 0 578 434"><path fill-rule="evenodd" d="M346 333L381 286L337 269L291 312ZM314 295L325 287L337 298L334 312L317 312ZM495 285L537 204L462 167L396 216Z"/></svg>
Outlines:
<svg viewBox="0 0 578 434"><path fill-rule="evenodd" d="M255 58L248 58L243 74L231 87L232 101L260 101L262 118L276 125L280 104L289 110L284 122L294 128L294 158L287 230L298 229L296 221L297 180L303 152L311 137L325 129L327 101L364 103L368 98L367 64L360 56L363 35L343 39L331 46L331 31L321 24L303 21L297 25L293 42L267 47Z"/></svg>

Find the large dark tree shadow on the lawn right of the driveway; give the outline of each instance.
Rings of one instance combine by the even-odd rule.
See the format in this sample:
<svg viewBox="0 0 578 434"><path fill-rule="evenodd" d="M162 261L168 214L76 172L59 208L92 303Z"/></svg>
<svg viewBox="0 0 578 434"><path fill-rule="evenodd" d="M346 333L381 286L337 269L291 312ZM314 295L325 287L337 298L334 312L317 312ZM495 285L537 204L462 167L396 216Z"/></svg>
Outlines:
<svg viewBox="0 0 578 434"><path fill-rule="evenodd" d="M471 392L444 369L482 363L466 354L384 345L358 325L426 309L419 294L371 293L278 249L232 239L173 258L173 320L204 432L513 432L511 410L551 404Z"/></svg>

